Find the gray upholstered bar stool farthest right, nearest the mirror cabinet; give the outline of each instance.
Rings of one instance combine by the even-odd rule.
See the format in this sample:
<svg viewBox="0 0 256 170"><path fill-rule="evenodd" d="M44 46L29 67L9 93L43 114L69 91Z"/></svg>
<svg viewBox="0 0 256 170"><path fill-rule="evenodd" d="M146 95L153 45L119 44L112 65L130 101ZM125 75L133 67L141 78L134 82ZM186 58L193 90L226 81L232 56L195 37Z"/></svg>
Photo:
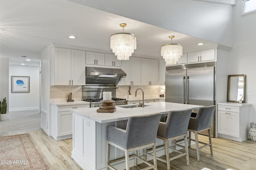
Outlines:
<svg viewBox="0 0 256 170"><path fill-rule="evenodd" d="M216 106L214 105L200 107L198 110L198 113L196 113L196 117L190 117L190 121L188 124L188 131L189 131L188 146L189 147L191 146L191 141L196 142L197 161L200 160L200 155L199 155L200 149L203 149L205 147L210 147L211 154L213 154L210 127L211 127L212 117L214 115L215 108ZM198 141L198 133L206 130L208 130L209 143ZM194 132L195 134L195 139L192 139L192 132ZM199 147L199 143L203 144L203 146Z"/></svg>

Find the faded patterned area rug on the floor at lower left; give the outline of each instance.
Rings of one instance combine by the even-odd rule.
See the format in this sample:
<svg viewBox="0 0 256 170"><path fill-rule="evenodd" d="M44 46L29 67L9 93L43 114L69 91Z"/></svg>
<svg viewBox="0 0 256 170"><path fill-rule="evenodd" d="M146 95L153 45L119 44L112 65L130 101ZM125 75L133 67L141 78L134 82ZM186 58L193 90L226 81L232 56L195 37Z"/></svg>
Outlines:
<svg viewBox="0 0 256 170"><path fill-rule="evenodd" d="M28 133L0 137L1 170L49 170Z"/></svg>

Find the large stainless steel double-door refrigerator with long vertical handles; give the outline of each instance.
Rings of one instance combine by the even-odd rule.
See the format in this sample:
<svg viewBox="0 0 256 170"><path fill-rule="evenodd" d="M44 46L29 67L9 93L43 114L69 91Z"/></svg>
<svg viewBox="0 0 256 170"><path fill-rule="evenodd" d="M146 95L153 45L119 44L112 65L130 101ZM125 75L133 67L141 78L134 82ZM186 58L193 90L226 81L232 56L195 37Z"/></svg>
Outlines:
<svg viewBox="0 0 256 170"><path fill-rule="evenodd" d="M165 101L215 105L215 72L216 62L166 66ZM212 137L215 137L215 115L210 129ZM208 135L207 131L201 134Z"/></svg>

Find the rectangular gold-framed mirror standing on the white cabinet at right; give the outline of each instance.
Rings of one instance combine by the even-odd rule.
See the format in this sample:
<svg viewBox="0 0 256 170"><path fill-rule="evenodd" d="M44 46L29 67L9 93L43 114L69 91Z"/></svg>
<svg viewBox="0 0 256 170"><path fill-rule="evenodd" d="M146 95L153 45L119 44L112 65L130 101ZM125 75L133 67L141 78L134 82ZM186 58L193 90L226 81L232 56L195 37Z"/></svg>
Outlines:
<svg viewBox="0 0 256 170"><path fill-rule="evenodd" d="M228 102L245 103L246 75L228 75Z"/></svg>

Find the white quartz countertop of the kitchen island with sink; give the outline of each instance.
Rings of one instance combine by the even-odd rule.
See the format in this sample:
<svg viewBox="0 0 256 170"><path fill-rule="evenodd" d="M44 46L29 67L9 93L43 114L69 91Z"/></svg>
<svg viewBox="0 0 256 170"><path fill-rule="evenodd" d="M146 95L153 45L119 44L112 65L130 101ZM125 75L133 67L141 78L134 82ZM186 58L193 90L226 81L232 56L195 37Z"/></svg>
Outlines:
<svg viewBox="0 0 256 170"><path fill-rule="evenodd" d="M128 105L125 105L128 106ZM170 103L170 102L150 102L146 103L145 107L134 107L134 108L122 108L120 106L116 106L116 111L114 113L97 113L98 107L84 108L84 109L73 109L73 114L82 115L88 119L93 121L97 121L99 123L108 123L114 121L126 120L130 116L135 115L145 115L150 113L163 113L171 110L178 109L198 109L198 105L190 105L190 104L178 104L178 103Z"/></svg>

